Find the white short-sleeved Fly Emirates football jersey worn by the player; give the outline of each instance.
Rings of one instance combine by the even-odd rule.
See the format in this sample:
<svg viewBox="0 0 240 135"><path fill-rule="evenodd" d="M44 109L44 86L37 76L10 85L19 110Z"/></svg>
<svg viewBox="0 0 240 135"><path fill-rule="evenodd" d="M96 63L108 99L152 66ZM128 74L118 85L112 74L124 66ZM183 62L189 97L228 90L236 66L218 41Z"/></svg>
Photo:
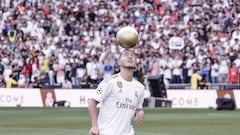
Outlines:
<svg viewBox="0 0 240 135"><path fill-rule="evenodd" d="M98 125L100 135L134 135L132 127L136 109L142 109L145 87L120 74L103 80L94 99L100 103Z"/></svg>

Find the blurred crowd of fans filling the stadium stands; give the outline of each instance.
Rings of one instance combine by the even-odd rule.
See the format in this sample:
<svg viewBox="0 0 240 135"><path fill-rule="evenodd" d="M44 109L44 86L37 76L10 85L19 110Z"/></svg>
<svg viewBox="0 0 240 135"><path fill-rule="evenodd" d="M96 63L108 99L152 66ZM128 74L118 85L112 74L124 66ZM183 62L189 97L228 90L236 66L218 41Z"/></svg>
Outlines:
<svg viewBox="0 0 240 135"><path fill-rule="evenodd" d="M118 72L126 25L141 82L239 82L239 0L1 0L0 87L91 87Z"/></svg>

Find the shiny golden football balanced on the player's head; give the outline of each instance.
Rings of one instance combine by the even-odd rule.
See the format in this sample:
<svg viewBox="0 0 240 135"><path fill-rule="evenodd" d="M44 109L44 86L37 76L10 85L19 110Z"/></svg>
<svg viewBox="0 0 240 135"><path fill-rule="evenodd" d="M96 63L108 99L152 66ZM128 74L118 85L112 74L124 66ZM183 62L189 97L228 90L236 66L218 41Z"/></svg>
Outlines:
<svg viewBox="0 0 240 135"><path fill-rule="evenodd" d="M132 48L138 42L138 32L133 27L125 26L117 32L116 39L123 48Z"/></svg>

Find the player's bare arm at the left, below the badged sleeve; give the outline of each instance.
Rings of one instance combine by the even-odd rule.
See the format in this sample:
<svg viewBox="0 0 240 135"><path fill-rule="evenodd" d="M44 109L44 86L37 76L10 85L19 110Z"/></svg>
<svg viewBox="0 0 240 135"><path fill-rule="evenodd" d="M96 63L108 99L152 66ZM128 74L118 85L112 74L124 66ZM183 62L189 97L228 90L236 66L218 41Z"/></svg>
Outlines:
<svg viewBox="0 0 240 135"><path fill-rule="evenodd" d="M97 104L98 102L96 100L91 99L88 105L88 112L92 124L89 135L99 135L99 128L97 122Z"/></svg>

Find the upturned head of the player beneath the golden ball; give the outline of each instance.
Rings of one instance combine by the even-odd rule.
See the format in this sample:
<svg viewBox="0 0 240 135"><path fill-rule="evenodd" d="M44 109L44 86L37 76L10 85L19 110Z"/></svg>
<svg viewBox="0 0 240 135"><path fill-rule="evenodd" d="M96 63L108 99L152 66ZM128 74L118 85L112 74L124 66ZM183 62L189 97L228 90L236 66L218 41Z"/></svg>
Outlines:
<svg viewBox="0 0 240 135"><path fill-rule="evenodd" d="M123 68L134 69L136 67L136 55L132 50L124 50L118 59L118 65Z"/></svg>

